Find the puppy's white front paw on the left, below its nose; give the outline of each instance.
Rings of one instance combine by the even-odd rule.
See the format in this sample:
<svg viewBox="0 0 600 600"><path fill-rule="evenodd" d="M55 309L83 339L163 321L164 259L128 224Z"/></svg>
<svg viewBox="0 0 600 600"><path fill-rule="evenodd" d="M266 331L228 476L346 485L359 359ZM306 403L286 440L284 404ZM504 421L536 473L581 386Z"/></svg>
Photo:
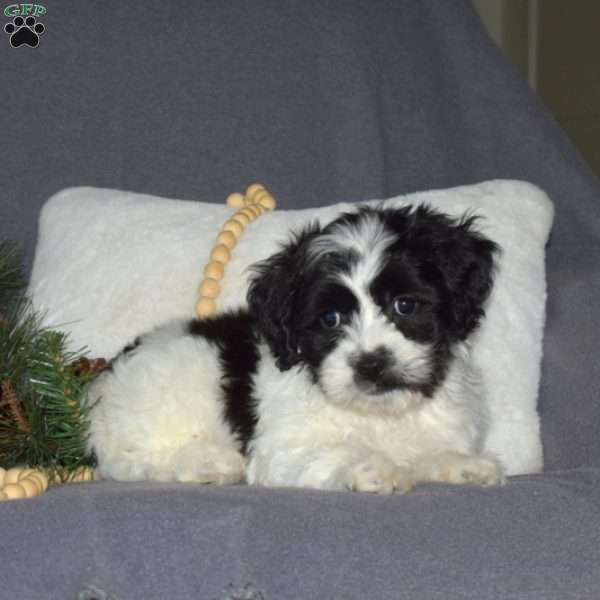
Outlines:
<svg viewBox="0 0 600 600"><path fill-rule="evenodd" d="M414 478L408 469L398 467L385 456L378 454L353 464L349 469L348 487L357 492L404 494L414 486Z"/></svg>

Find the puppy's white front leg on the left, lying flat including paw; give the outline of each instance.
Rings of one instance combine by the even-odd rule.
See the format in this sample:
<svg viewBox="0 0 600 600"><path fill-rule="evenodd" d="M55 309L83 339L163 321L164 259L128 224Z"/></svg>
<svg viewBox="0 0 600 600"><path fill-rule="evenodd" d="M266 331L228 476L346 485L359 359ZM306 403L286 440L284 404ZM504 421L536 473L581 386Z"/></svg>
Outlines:
<svg viewBox="0 0 600 600"><path fill-rule="evenodd" d="M376 494L404 493L414 487L412 472L368 448L338 446L254 457L249 483Z"/></svg>

